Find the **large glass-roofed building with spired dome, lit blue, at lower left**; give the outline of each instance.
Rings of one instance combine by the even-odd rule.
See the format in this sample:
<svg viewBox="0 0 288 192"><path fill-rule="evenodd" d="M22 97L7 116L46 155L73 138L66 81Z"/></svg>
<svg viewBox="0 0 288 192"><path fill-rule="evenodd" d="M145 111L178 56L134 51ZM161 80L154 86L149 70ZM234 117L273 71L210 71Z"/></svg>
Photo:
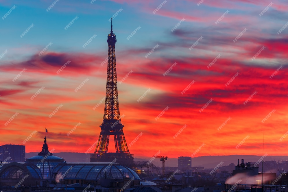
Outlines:
<svg viewBox="0 0 288 192"><path fill-rule="evenodd" d="M26 186L101 185L123 187L125 180L134 178L133 184L140 183L138 174L118 163L69 163L63 158L54 156L48 150L46 137L42 151L22 163L7 163L1 166L1 186L15 186L25 176ZM119 182L117 182L119 181ZM117 184L118 183L118 184ZM118 185L118 186L117 186Z"/></svg>

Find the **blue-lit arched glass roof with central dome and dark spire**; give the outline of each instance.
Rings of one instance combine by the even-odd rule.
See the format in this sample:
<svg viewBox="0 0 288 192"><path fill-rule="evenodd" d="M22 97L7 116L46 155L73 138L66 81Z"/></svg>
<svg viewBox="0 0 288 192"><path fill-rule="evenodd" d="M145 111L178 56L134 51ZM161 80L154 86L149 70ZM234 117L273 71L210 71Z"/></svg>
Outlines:
<svg viewBox="0 0 288 192"><path fill-rule="evenodd" d="M53 151L53 149L52 149ZM138 174L119 163L107 162L66 162L63 158L54 156L48 150L46 136L42 151L28 158L24 163L10 163L1 167L1 181L22 178L28 174L37 181L82 180L91 182L101 179L134 178L140 180ZM59 179L60 178L60 179ZM18 181L17 181L18 182Z"/></svg>

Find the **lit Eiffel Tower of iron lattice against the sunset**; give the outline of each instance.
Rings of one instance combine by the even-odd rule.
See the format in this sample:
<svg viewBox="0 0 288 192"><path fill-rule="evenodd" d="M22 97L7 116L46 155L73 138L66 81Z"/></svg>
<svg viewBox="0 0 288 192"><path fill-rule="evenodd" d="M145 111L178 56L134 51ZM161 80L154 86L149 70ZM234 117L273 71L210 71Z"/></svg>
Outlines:
<svg viewBox="0 0 288 192"><path fill-rule="evenodd" d="M115 43L116 36L112 30L108 34L108 66L107 66L107 83L106 99L104 108L103 123L100 125L101 132L97 142L94 154L90 156L90 162L114 162L120 165L133 165L134 157L130 154L119 112L118 91L117 91L117 74L116 74L116 56ZM108 144L110 135L114 135L116 153L108 153Z"/></svg>

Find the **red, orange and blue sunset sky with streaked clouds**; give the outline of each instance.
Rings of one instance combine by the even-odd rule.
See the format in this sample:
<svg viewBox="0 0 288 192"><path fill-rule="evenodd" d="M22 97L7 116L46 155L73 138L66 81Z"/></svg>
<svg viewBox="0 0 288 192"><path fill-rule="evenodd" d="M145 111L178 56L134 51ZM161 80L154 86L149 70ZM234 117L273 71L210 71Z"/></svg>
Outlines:
<svg viewBox="0 0 288 192"><path fill-rule="evenodd" d="M32 134L26 152L39 152L45 126L54 152L84 153L97 141L105 102L93 107L105 97L109 19L120 10L119 107L134 157L191 156L203 143L193 157L262 155L263 131L264 153L287 155L288 1L60 0L47 11L53 2L0 0L1 18L11 10L0 19L0 145Z"/></svg>

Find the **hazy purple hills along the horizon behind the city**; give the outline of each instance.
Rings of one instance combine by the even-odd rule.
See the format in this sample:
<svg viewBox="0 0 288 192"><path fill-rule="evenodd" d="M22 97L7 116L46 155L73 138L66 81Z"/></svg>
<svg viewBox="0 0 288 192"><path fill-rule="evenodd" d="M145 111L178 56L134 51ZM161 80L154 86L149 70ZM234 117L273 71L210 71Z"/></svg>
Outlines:
<svg viewBox="0 0 288 192"><path fill-rule="evenodd" d="M30 158L32 156L38 155L38 152L31 152L26 153L26 158ZM64 158L67 162L90 162L90 154L85 153L72 153L72 152L60 152L60 153L53 153L53 155L59 156ZM223 166L229 165L230 163L237 164L237 160L241 163L241 159L245 160L245 163L249 162L256 162L262 156L256 155L228 155L228 156L201 156L192 158L192 167L205 167L205 168L214 168L218 163L223 161ZM139 160L147 160L149 161L151 158L134 158L135 161ZM270 160L284 160L286 161L288 156L267 156L264 157L264 161ZM156 158L152 162L154 165L158 167L162 167L162 162L160 159ZM165 162L166 167L178 167L178 158L169 158Z"/></svg>

